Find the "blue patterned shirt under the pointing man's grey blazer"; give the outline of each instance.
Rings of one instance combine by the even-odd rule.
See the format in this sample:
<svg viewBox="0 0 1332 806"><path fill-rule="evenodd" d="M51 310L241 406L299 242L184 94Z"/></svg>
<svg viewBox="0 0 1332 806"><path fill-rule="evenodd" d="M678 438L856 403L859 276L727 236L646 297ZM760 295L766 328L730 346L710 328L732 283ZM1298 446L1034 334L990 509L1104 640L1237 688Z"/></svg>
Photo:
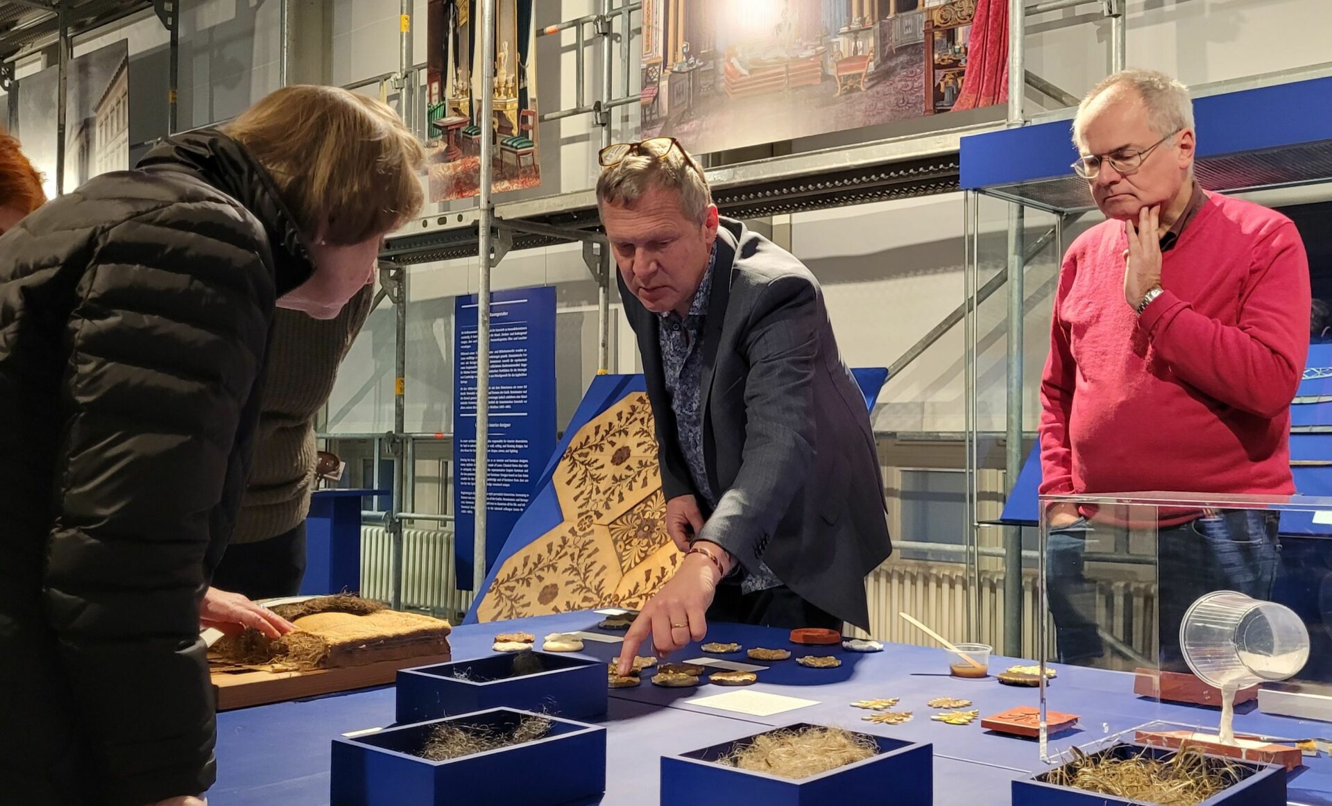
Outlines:
<svg viewBox="0 0 1332 806"><path fill-rule="evenodd" d="M717 492L707 481L707 462L703 458L703 410L699 400L703 386L703 321L707 318L707 304L713 294L713 266L717 264L717 245L707 258L703 280L694 292L689 313L683 318L674 310L658 313L658 346L662 350L662 372L666 376L666 393L670 394L670 408L675 413L675 433L679 449L689 465L689 476L694 489L699 492L709 509L717 509ZM746 574L741 590L751 593L781 585L766 564Z"/></svg>

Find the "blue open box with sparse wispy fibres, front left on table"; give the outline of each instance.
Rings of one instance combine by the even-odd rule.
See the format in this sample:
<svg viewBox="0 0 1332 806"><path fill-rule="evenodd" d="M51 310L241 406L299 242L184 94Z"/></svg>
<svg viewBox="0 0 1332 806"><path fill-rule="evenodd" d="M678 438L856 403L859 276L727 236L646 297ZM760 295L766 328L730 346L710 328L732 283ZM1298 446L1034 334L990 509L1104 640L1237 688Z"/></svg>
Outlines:
<svg viewBox="0 0 1332 806"><path fill-rule="evenodd" d="M442 722L513 730L515 709L333 739L332 806L554 806L606 791L606 729L551 718L546 738L449 761L416 755ZM539 783L538 783L539 782Z"/></svg>

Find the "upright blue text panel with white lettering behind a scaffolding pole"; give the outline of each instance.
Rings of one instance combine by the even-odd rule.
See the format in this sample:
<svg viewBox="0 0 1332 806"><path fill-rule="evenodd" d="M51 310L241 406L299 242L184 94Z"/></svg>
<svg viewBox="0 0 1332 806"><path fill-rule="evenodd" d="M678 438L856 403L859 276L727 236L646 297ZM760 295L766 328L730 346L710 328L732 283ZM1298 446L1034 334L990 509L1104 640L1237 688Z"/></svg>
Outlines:
<svg viewBox="0 0 1332 806"><path fill-rule="evenodd" d="M531 504L555 449L555 289L490 294L490 428L486 469L486 568ZM476 561L477 297L454 302L454 568L472 589Z"/></svg>

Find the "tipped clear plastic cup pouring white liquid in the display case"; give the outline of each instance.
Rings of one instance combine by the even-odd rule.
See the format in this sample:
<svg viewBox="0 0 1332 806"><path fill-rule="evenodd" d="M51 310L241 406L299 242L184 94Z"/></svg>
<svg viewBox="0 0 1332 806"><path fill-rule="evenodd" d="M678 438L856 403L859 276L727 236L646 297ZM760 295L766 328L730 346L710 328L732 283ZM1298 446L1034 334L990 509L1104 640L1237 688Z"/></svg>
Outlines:
<svg viewBox="0 0 1332 806"><path fill-rule="evenodd" d="M1179 643L1193 674L1217 689L1285 679L1309 659L1309 633L1293 610L1233 590L1193 602Z"/></svg>

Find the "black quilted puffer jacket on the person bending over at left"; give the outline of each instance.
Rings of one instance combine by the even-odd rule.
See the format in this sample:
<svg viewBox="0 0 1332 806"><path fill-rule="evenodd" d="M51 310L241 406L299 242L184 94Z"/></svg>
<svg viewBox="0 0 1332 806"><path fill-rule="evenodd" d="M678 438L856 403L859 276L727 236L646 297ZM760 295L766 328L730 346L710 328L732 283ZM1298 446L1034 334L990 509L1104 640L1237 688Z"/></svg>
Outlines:
<svg viewBox="0 0 1332 806"><path fill-rule="evenodd" d="M310 272L268 173L208 131L0 237L0 801L212 785L198 604L274 300Z"/></svg>

